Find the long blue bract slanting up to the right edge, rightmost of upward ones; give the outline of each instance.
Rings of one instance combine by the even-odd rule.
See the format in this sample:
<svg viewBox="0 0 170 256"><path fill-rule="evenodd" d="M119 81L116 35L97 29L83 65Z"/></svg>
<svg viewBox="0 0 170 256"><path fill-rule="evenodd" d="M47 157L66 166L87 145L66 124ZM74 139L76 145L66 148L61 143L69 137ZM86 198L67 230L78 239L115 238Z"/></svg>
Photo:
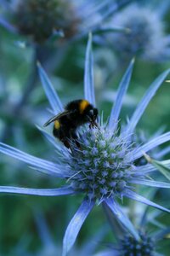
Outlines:
<svg viewBox="0 0 170 256"><path fill-rule="evenodd" d="M133 113L132 118L130 119L128 125L127 125L127 131L133 132L136 125L139 122L139 119L141 118L142 114L144 113L145 108L148 106L150 100L153 96L156 94L156 90L159 89L163 81L166 79L167 75L169 74L170 69L165 71L164 73L161 73L161 75L150 85L150 88L146 91L144 97L142 98L141 102L139 103L139 106L136 108L136 110Z"/></svg>

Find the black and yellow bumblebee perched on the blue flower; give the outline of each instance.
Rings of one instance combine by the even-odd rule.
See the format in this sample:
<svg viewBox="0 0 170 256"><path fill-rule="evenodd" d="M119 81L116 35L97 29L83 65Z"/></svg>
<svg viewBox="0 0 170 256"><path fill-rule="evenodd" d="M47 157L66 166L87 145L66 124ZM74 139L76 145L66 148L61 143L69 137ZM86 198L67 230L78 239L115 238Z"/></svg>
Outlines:
<svg viewBox="0 0 170 256"><path fill-rule="evenodd" d="M77 147L77 128L81 125L89 123L89 127L98 126L96 120L98 118L98 109L94 108L90 102L81 99L69 102L65 106L65 110L49 119L43 126L46 127L54 122L54 137L57 137L66 148L71 148L70 142L74 140Z"/></svg>

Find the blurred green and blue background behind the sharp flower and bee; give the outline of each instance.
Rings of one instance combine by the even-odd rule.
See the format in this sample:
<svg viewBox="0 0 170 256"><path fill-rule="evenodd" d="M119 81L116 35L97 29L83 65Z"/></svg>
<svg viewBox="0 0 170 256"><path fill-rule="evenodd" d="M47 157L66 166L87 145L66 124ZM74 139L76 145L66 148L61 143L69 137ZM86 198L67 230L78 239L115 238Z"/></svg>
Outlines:
<svg viewBox="0 0 170 256"><path fill-rule="evenodd" d="M54 148L36 126L42 127L50 117L36 63L37 60L42 63L64 104L82 98L89 31L94 32L96 101L105 121L118 84L133 57L135 65L123 102L122 124L133 113L151 82L170 67L168 0L92 2L81 0L82 5L77 6L75 1L61 0L0 1L1 142L37 157L55 160ZM138 132L145 140L157 131L170 131L169 102L170 84L165 82L139 122ZM169 158L167 153L164 159ZM3 154L0 155L0 170L0 185L56 186L54 178L39 174ZM169 192L161 189L155 201L167 207L168 197ZM61 255L65 228L81 201L78 196L0 195L0 255ZM170 225L165 213L159 216L159 221L164 226ZM77 251L72 255L81 255L82 245L98 236L101 224L106 225L106 222L101 207L96 207L83 225L77 248L74 248ZM154 229L156 226L150 223L149 230ZM41 237L42 233L47 236ZM109 226L104 235L95 242L96 251L115 241ZM46 242L51 244L49 249ZM170 254L167 238L161 241L159 250L164 255Z"/></svg>

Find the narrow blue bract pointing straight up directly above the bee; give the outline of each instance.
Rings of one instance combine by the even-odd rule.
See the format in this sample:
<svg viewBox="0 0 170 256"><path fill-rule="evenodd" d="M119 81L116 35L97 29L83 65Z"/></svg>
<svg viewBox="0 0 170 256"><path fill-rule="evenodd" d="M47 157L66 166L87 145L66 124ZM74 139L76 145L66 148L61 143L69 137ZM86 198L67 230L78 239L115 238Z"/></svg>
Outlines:
<svg viewBox="0 0 170 256"><path fill-rule="evenodd" d="M92 54L92 34L88 36L88 46L86 50L85 72L84 72L84 96L88 102L95 106L94 96L94 59Z"/></svg>

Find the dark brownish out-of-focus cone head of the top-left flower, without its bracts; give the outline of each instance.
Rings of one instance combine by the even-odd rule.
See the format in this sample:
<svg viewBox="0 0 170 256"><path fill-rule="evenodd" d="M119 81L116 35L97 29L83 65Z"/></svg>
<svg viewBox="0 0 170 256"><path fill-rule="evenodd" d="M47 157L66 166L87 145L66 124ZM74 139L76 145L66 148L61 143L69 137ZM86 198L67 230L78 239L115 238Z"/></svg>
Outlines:
<svg viewBox="0 0 170 256"><path fill-rule="evenodd" d="M14 21L20 33L42 43L55 31L71 38L77 33L79 18L71 1L20 0L15 6Z"/></svg>

